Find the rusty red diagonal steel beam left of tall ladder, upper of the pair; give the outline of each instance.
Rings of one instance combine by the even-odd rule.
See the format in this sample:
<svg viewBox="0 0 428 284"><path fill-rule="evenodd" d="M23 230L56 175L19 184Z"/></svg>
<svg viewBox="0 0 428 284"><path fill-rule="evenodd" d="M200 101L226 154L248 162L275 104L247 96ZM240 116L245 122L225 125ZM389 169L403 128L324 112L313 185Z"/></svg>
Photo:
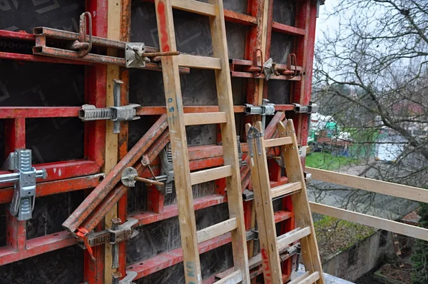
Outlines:
<svg viewBox="0 0 428 284"><path fill-rule="evenodd" d="M108 195L108 193L116 186L116 183L121 179L121 173L124 168L133 166L143 155L146 153L151 144L161 136L165 128L168 127L166 115L153 124L153 126L144 134L144 136L136 143L133 148L128 151L125 157L112 169L104 180L85 198L85 200L71 213L71 215L64 221L63 228L74 233L78 226L83 223L86 218L95 210L101 201Z"/></svg>

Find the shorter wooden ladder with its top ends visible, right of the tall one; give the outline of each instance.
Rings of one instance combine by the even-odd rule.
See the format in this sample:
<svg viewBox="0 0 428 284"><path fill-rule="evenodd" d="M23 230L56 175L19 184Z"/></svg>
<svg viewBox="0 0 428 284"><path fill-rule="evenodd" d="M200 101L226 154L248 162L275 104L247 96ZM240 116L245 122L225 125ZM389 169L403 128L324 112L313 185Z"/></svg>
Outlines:
<svg viewBox="0 0 428 284"><path fill-rule="evenodd" d="M292 120L289 119L286 126L282 122L277 123L277 130L280 138L265 140L260 121L256 123L255 127L251 126L250 123L246 125L247 141L250 149L251 180L253 181L255 212L265 283L282 283L278 241L282 244L287 243L287 245L290 245L300 240L306 272L291 280L290 283L323 284L324 277L321 260ZM288 183L270 188L265 148L278 146L280 146L280 153L285 164ZM277 237L272 198L288 195L291 195L292 198L297 229Z"/></svg>

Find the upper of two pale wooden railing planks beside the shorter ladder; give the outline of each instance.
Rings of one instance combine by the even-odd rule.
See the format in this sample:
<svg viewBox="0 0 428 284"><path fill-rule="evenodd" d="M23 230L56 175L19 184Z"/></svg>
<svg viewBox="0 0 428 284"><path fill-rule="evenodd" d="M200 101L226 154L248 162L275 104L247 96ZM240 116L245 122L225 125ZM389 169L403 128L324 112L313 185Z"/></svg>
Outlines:
<svg viewBox="0 0 428 284"><path fill-rule="evenodd" d="M415 188L413 186L404 186L398 183L389 183L387 181L377 181L372 178L363 178L361 176L352 176L346 173L335 173L333 171L324 171L317 168L306 167L306 171L312 173L312 178L326 183L335 183L340 186L349 186L364 191L382 193L387 196L406 198L412 201L428 203L428 190L424 188Z"/></svg>

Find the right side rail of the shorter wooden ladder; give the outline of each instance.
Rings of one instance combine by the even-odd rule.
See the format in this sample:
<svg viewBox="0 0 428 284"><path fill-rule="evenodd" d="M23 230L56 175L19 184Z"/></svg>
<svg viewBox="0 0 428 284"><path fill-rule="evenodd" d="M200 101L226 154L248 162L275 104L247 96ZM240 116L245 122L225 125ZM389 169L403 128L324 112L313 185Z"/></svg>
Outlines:
<svg viewBox="0 0 428 284"><path fill-rule="evenodd" d="M287 178L289 183L300 182L302 190L291 196L293 208L295 211L295 222L297 227L310 228L310 235L300 240L302 246L302 258L305 263L305 268L310 273L316 271L322 272L320 253L318 250L317 239L310 211L309 199L307 198L305 177L303 176L302 163L297 148L297 138L295 135L294 124L291 119L287 120L287 125L282 122L277 123L278 133L280 137L292 138L292 144L281 146L282 159L287 169ZM320 273L318 284L325 283L324 275Z"/></svg>

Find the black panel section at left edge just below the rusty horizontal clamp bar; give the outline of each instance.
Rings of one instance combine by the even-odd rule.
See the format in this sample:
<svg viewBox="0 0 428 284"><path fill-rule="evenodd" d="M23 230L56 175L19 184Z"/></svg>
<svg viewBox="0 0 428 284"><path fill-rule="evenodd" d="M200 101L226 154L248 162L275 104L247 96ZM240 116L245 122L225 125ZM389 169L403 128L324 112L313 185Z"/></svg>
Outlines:
<svg viewBox="0 0 428 284"><path fill-rule="evenodd" d="M83 66L1 60L0 106L81 106L83 77Z"/></svg>

